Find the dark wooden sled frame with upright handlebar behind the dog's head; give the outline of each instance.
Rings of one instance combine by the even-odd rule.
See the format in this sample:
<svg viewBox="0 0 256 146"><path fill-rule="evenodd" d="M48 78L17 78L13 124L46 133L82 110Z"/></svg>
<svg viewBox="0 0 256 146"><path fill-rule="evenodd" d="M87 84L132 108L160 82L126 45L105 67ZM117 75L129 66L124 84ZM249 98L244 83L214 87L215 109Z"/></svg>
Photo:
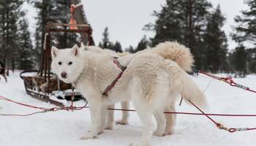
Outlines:
<svg viewBox="0 0 256 146"><path fill-rule="evenodd" d="M70 29L70 26L76 26L78 29ZM43 52L42 52L42 60L40 64L39 71L37 71L37 75L39 77L43 77L45 82L48 82L48 92L47 93L39 93L37 91L33 91L31 88L29 88L29 85L27 85L26 78L23 78L24 85L26 89L26 93L28 93L32 98L38 99L40 101L49 102L50 104L54 104L59 107L64 107L64 104L62 104L59 101L55 101L53 99L50 99L50 77L52 74L50 73L50 64L52 61L51 58L51 35L53 33L58 32L66 32L66 33L80 33L82 42L85 45L94 45L94 40L92 37L92 28L91 26L87 24L66 24L66 23L48 23L47 25L47 31L45 34L45 42L43 45ZM86 37L83 37L82 34L86 34Z"/></svg>

